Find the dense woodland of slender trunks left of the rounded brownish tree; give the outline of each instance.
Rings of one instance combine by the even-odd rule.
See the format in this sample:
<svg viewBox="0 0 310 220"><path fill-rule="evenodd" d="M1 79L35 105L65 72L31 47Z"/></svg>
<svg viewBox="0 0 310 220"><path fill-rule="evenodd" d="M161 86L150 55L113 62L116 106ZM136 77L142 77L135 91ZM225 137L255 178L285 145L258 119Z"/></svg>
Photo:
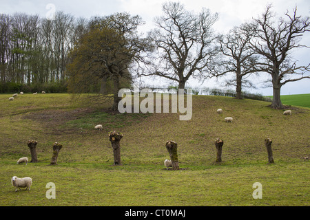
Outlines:
<svg viewBox="0 0 310 220"><path fill-rule="evenodd" d="M56 12L53 20L23 13L0 14L2 92L10 83L19 86L64 84L68 52L86 27L85 19L75 19L63 12Z"/></svg>

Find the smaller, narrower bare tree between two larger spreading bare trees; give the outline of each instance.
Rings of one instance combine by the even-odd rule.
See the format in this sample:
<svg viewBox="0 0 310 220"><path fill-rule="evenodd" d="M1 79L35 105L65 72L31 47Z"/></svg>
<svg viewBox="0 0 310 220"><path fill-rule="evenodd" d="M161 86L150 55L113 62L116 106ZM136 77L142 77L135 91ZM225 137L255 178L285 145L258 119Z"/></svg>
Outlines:
<svg viewBox="0 0 310 220"><path fill-rule="evenodd" d="M227 56L227 60L221 62L224 70L221 74L234 73L234 80L228 80L227 85L236 86L236 98L241 99L242 85L254 87L254 85L245 79L256 72L254 68L258 61L258 56L254 50L251 50L249 41L252 32L247 23L235 27L225 36L219 38L220 51Z"/></svg>

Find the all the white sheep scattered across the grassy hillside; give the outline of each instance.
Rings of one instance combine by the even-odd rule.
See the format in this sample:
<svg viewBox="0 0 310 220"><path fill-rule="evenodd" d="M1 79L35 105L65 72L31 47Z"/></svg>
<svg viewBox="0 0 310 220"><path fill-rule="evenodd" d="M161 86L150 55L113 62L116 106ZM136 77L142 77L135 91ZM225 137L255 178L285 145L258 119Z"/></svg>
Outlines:
<svg viewBox="0 0 310 220"><path fill-rule="evenodd" d="M20 93L21 95L23 95L23 92ZM34 93L34 95L37 94ZM45 91L42 91L42 94L45 94ZM9 98L9 100L14 100L14 97L16 97L17 94L14 94L12 97ZM216 111L217 113L223 113L223 109L217 109ZM291 115L291 110L286 110L283 112L284 115ZM227 117L225 118L225 122L232 122L233 118L231 117ZM94 129L99 129L102 130L103 126L102 124L98 124L96 126L94 126ZM25 163L25 165L28 164L28 157L21 157L18 161L17 164L21 164L21 163ZM165 159L164 161L164 165L165 167L168 169L169 167L172 167L172 161ZM32 179L30 177L24 177L24 178L19 178L17 176L12 177L11 179L12 182L12 186L16 187L15 192L17 191L17 189L21 190L21 188L25 188L25 190L30 190L30 186L32 185Z"/></svg>

